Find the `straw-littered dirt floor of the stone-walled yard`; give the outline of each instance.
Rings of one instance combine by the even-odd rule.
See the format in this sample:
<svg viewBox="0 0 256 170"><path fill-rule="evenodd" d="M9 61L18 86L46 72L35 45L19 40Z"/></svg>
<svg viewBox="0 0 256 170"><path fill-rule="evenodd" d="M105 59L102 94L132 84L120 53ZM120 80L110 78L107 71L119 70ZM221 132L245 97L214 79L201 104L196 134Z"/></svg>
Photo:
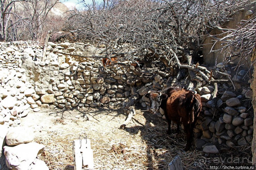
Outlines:
<svg viewBox="0 0 256 170"><path fill-rule="evenodd" d="M39 159L49 169L73 169L73 140L84 138L91 140L95 169L168 169L168 163L177 155L183 169L209 169L210 165L216 165L214 159L233 156L238 150L240 156L251 160L250 146L221 148L217 155L204 154L195 147L184 152L184 133L167 135L167 123L147 111L136 110L126 129L121 130L119 127L125 119L121 109L45 109L30 112L21 119L21 125L34 128L35 141L46 146ZM217 163L230 165L221 161Z"/></svg>

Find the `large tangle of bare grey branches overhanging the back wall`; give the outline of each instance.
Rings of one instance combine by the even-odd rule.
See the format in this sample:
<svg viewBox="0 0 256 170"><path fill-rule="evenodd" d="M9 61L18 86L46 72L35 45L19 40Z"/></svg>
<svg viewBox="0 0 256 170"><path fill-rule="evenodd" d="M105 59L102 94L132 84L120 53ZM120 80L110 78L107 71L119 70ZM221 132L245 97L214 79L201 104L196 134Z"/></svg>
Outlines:
<svg viewBox="0 0 256 170"><path fill-rule="evenodd" d="M241 6L251 1L104 2L104 6L93 3L91 6L87 4L88 10L73 11L67 29L73 30L79 39L104 44L103 57L132 62L161 61L171 72L176 68L186 68L190 70L191 80L205 83L214 81L211 71L196 64L201 64L205 38L213 28L220 27Z"/></svg>

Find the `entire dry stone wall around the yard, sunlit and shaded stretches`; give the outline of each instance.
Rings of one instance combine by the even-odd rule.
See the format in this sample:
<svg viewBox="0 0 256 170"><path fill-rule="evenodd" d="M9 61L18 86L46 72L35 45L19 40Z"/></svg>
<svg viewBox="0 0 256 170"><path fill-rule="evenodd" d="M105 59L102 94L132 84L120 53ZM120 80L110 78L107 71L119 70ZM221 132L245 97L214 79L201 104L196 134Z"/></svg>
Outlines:
<svg viewBox="0 0 256 170"><path fill-rule="evenodd" d="M101 51L90 44L49 42L45 62L41 62L43 47L37 42L1 43L0 47L0 125L17 126L20 118L41 108L124 106L136 93L141 97L141 106L148 109L149 100L143 95L149 90L190 83L185 70L171 77L153 74L154 80L145 84L133 68L104 68L100 60L74 56L90 56L92 52L97 55ZM223 70L221 63L217 67ZM233 79L243 81L244 74L245 70L241 70ZM206 153L218 153L215 145L252 143L253 114L248 112L252 90L235 86L240 90L232 92L229 84L219 87L217 106L213 106L213 86L196 89L201 94L203 110L194 129L195 145ZM156 114L165 118L162 110Z"/></svg>

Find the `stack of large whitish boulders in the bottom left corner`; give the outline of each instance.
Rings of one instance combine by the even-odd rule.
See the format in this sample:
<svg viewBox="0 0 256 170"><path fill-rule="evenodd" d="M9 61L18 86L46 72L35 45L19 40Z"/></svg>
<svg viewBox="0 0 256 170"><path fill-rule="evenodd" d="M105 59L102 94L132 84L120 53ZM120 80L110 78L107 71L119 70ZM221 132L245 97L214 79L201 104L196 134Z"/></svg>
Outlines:
<svg viewBox="0 0 256 170"><path fill-rule="evenodd" d="M28 127L9 128L3 147L5 163L13 170L49 170L44 161L37 159L45 146L33 142L33 131ZM2 144L2 143L0 143Z"/></svg>

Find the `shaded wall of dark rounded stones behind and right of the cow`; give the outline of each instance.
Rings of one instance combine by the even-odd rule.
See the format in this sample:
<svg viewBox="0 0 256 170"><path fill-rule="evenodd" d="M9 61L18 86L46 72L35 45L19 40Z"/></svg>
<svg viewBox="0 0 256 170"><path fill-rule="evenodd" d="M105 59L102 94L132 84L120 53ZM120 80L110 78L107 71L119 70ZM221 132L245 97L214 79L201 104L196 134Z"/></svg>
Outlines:
<svg viewBox="0 0 256 170"><path fill-rule="evenodd" d="M218 64L222 68L222 64ZM244 76L245 70L239 72L240 77ZM177 76L164 79L160 75L155 76L152 83L147 83L138 90L142 96L141 106L149 109L149 99L143 95L149 90L161 90L166 86L183 87L189 83L187 80L182 80L182 72ZM238 76L235 76L239 78ZM241 78L240 78L241 80ZM213 90L214 87L206 85L198 88L197 93L201 95L202 112L197 120L194 129L195 146L198 149L203 149L204 152L213 154L219 153L215 145L225 147L251 145L253 139L253 111L251 101L253 99L253 91L249 87L242 87L240 84L235 84L239 91L229 91L228 84L223 84L219 88L219 96L217 97L216 105L214 105ZM250 114L248 113L250 110ZM164 112L156 112L157 116L165 119Z"/></svg>

